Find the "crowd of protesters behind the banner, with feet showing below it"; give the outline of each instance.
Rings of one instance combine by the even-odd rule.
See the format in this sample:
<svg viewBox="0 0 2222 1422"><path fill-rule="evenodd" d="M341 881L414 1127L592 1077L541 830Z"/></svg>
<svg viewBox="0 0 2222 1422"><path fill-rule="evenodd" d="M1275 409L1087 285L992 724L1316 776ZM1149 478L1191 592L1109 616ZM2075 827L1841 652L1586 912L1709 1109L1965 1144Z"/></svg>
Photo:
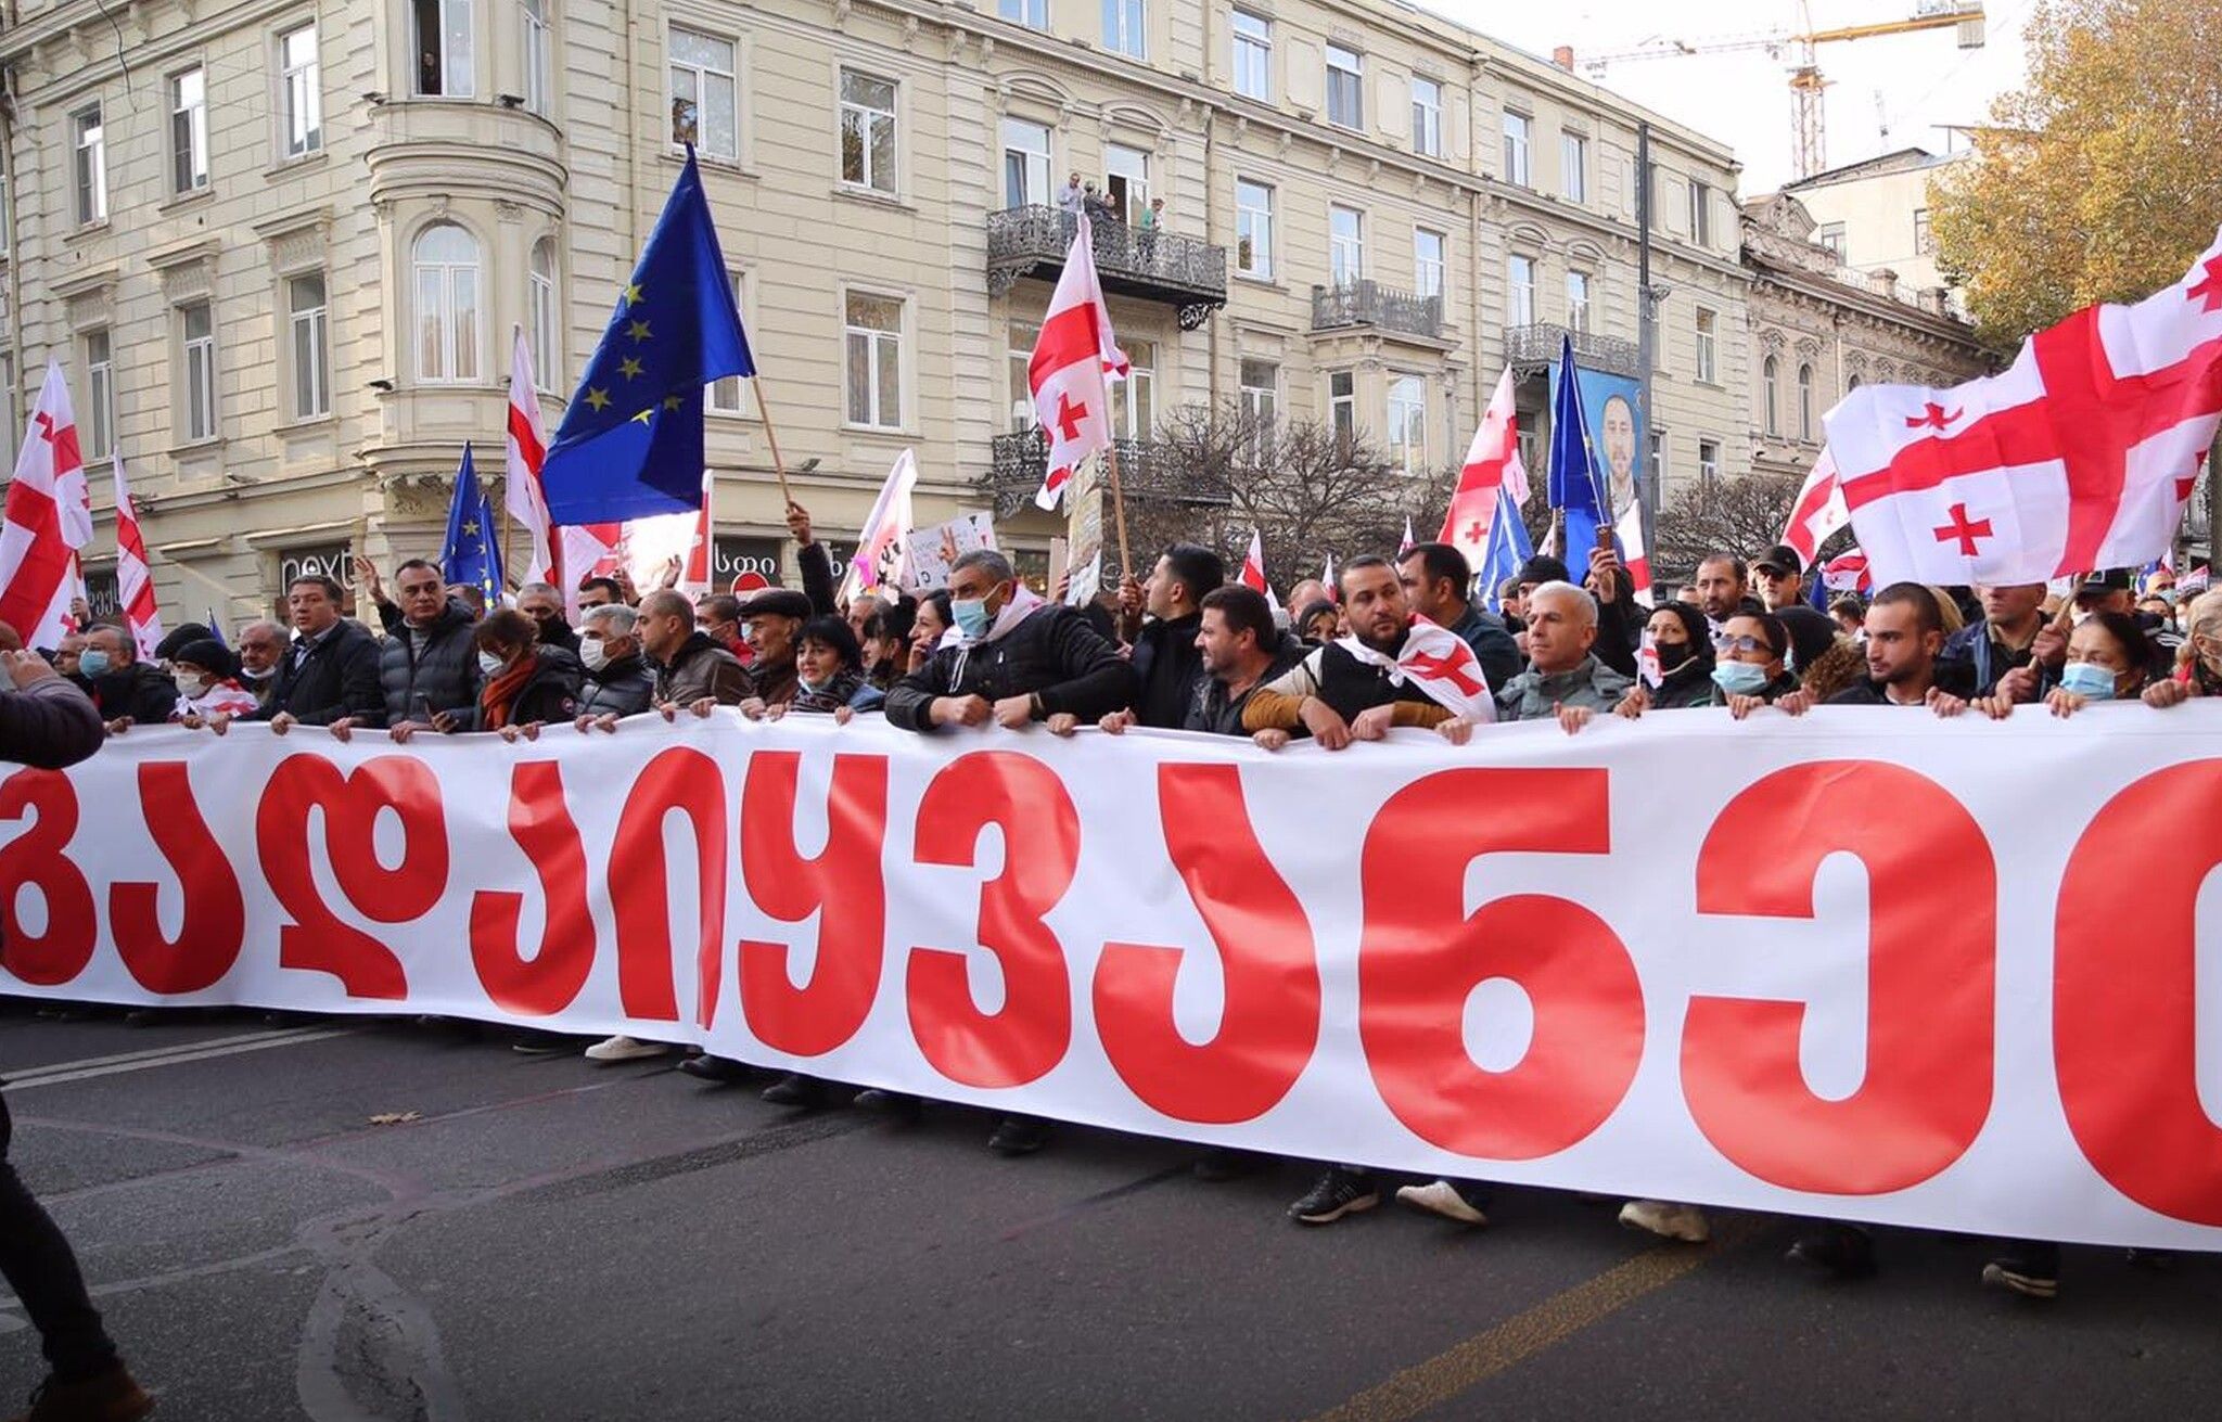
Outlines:
<svg viewBox="0 0 2222 1422"><path fill-rule="evenodd" d="M342 615L344 589L311 573L287 589L291 629L258 620L227 642L218 629L180 627L151 660L138 658L131 635L109 622L67 638L47 660L0 635L0 647L16 647L0 658L24 691L0 695L0 735L13 729L11 718L36 711L89 738L58 749L13 735L0 740L0 755L60 764L91 753L102 727L120 735L160 722L213 733L247 720L280 735L307 724L342 740L384 729L393 740L493 733L513 742L562 722L580 733L613 733L633 715L671 720L720 707L758 720L829 715L847 724L880 715L920 735L1040 722L1055 735L1147 727L1247 735L1271 751L1307 738L1322 751L1344 751L1398 727L1469 744L1487 735L1484 720L1555 720L1580 733L1600 715L1633 720L1695 707L1726 709L1733 720L1762 711L1804 715L1818 704L2006 718L2082 715L2129 700L2166 709L2222 695L2222 591L2178 602L2164 573L2149 578L2142 595L2126 571L2093 573L2064 595L2044 584L1900 582L1864 600L1835 598L1820 611L1806 602L1798 555L1775 547L1751 562L1715 553L1686 587L1644 607L1618 558L1595 551L1580 578L1558 558L1531 558L1515 578L1484 589L1484 602L1467 558L1429 542L1398 558L1351 558L1338 587L1298 584L1282 611L1229 584L1218 553L1175 544L1144 580L1127 580L1084 609L1038 595L998 551L958 558L944 591L840 604L809 513L789 507L789 529L800 591L689 600L669 587L642 595L615 575L587 578L569 600L575 613L549 584L527 584L513 607L489 611L478 589L444 582L420 558L391 571L391 593L380 569L358 560L358 591L376 629ZM1493 718L1453 713L1400 671L1398 653L1422 620L1471 649ZM71 704L56 707L58 695ZM678 1051L624 1035L591 1044L551 1033L511 1040L518 1051L582 1049L598 1062ZM680 1069L720 1084L751 1075L740 1062L700 1051ZM858 1106L915 1118L924 1109L895 1091L853 1091L802 1073L780 1075L762 1095L813 1111ZM4 1131L0 1113L0 1211L31 1218L36 1202L4 1169ZM1013 1115L989 1146L1027 1155L1049 1142L1049 1122ZM1260 1164L1218 1149L1195 1162L1195 1173L1227 1180ZM1378 1171L1333 1164L1289 1215L1331 1224L1380 1204L1387 1184ZM1471 1180L1413 1180L1395 1195L1467 1226L1487 1224L1491 1200ZM1704 1211L1693 1204L1633 1200L1620 1220L1671 1240L1709 1238ZM58 1235L27 1229L22 1238L44 1253L0 1262L9 1262L18 1293L18 1273L38 1273L42 1295L67 1295L51 1315L64 1338L56 1375L76 1369L69 1375L96 1380L84 1386L136 1389L98 1315L69 1302L82 1298L82 1284L71 1293L67 1246L56 1253ZM1811 1226L1791 1255L1842 1278L1875 1269L1873 1235L1851 1224ZM2058 1249L2000 1244L1984 1280L2053 1298Z"/></svg>

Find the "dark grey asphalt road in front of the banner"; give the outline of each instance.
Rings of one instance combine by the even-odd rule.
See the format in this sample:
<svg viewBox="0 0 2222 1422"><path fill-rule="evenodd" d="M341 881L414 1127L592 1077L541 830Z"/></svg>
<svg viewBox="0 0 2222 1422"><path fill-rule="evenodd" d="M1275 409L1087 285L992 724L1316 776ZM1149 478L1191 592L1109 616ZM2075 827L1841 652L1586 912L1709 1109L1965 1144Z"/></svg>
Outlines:
<svg viewBox="0 0 2222 1422"><path fill-rule="evenodd" d="M1302 1229L1295 1162L1202 1184L1098 1131L1000 1160L973 1111L795 1115L398 1024L0 1000L0 1075L171 1420L2222 1413L2213 1258L2073 1249L2033 1304L1964 1240L1889 1233L1880 1278L1822 1284L1786 1222L1693 1249L1542 1191L1484 1231ZM0 1291L0 1400L38 1373Z"/></svg>

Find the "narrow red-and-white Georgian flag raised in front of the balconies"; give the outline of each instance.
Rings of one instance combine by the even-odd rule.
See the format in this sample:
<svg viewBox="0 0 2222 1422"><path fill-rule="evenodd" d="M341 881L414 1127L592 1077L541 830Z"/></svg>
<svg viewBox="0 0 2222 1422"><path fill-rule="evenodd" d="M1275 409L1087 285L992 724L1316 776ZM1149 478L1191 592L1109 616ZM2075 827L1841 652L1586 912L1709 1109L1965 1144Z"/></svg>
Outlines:
<svg viewBox="0 0 2222 1422"><path fill-rule="evenodd" d="M1049 464L1033 502L1055 509L1080 460L1111 447L1111 380L1127 378L1127 356L1111 331L1111 309L1095 280L1095 247L1089 220L1073 224L1073 247L1049 296L1042 336L1027 362L1033 418L1049 440Z"/></svg>

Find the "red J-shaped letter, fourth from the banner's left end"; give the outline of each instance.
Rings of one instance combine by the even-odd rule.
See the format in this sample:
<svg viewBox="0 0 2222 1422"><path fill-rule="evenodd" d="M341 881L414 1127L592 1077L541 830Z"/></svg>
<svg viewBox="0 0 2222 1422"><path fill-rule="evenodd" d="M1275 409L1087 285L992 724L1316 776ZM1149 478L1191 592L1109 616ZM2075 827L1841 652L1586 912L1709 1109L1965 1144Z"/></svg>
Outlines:
<svg viewBox="0 0 2222 1422"><path fill-rule="evenodd" d="M518 951L524 895L480 889L471 895L471 967L496 1007L547 1018L571 1007L593 971L587 851L564 804L562 767L553 760L522 760L509 771L509 838L540 875L547 904L540 951L531 962Z"/></svg>

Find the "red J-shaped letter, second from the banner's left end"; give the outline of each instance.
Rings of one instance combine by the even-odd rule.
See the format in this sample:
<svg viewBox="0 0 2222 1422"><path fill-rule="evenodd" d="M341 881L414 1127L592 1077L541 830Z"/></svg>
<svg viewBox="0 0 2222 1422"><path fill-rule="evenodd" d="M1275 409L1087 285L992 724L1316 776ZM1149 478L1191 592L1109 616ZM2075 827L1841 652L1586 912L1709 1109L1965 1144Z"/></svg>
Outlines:
<svg viewBox="0 0 2222 1422"><path fill-rule="evenodd" d="M147 833L178 873L184 922L178 927L178 938L169 938L156 909L160 887L109 884L116 955L149 993L198 993L231 971L247 942L240 875L231 871L231 860L209 833L182 760L144 762L138 769L138 789Z"/></svg>

